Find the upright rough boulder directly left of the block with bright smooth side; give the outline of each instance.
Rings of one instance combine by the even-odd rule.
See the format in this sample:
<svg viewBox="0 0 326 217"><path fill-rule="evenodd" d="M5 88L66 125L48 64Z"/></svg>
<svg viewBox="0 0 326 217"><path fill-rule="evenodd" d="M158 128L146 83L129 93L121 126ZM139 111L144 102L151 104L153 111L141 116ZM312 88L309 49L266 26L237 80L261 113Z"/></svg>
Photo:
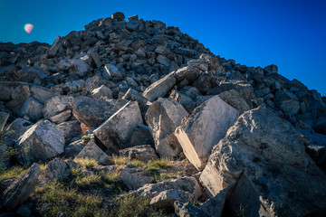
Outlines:
<svg viewBox="0 0 326 217"><path fill-rule="evenodd" d="M145 119L159 156L175 157L180 154L182 150L174 130L186 116L186 109L175 99L159 98L149 106Z"/></svg>

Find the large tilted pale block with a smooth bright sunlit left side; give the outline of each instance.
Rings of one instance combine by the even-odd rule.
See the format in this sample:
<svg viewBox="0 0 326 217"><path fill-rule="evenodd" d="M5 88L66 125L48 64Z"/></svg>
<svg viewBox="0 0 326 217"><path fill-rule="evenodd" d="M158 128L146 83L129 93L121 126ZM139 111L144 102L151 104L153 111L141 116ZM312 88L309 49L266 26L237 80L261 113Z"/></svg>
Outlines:
<svg viewBox="0 0 326 217"><path fill-rule="evenodd" d="M202 170L208 157L227 129L235 123L239 112L215 96L206 100L183 120L176 137L191 164Z"/></svg>

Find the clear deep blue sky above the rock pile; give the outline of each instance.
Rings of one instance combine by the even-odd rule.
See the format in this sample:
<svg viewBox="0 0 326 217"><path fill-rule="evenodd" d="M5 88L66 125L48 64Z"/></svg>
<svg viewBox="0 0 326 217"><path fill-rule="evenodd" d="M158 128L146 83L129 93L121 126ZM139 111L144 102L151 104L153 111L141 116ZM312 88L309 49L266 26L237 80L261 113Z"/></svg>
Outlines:
<svg viewBox="0 0 326 217"><path fill-rule="evenodd" d="M211 52L247 66L276 64L326 96L326 1L0 0L0 42L48 42L121 11L178 26ZM24 32L24 24L34 30Z"/></svg>

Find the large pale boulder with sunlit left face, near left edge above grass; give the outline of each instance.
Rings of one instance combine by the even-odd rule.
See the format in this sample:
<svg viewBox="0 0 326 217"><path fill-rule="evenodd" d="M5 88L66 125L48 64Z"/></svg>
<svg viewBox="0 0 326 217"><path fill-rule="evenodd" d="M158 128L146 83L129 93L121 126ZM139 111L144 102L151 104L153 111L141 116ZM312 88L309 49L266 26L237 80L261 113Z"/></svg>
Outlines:
<svg viewBox="0 0 326 217"><path fill-rule="evenodd" d="M64 136L62 130L49 120L40 120L20 137L14 147L18 151L19 163L32 165L62 154Z"/></svg>

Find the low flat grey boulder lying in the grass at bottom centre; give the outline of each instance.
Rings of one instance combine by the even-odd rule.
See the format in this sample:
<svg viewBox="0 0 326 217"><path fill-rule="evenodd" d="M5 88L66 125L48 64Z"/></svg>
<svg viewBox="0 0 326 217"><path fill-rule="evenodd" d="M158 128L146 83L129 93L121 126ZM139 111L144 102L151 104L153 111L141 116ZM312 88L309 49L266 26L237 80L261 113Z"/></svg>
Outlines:
<svg viewBox="0 0 326 217"><path fill-rule="evenodd" d="M168 190L174 190L179 191L178 193L183 192L184 194L188 194L186 198L184 197L185 199L187 199L187 202L196 202L202 194L200 186L197 183L196 178L194 177L181 177L177 179L159 182L157 184L145 184L144 186L140 187L138 190L132 193L148 198L154 198L157 197L160 193Z"/></svg>

